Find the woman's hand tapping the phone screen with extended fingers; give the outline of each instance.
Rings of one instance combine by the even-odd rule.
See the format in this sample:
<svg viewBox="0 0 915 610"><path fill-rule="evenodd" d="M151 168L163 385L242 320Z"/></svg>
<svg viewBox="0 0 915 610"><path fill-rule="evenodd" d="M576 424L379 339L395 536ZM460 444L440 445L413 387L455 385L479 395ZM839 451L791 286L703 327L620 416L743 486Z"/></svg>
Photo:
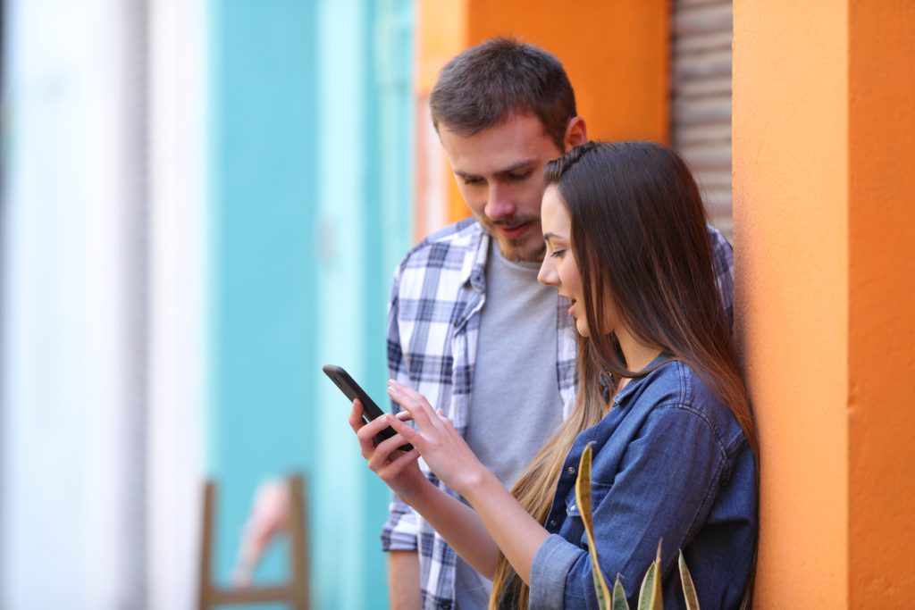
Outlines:
<svg viewBox="0 0 915 610"><path fill-rule="evenodd" d="M398 433L401 443L411 443L414 450L419 450L426 466L438 478L458 494L466 496L468 488L479 483L487 471L451 421L442 412L436 412L422 394L402 383L389 381L388 394L410 413L418 430L391 414L385 416L385 423Z"/></svg>

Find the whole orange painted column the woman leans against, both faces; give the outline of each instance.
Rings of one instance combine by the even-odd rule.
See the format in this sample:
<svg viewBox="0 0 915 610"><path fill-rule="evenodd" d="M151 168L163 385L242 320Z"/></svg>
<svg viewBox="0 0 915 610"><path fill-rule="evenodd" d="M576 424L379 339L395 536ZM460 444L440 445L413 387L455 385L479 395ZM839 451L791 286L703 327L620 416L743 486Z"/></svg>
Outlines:
<svg viewBox="0 0 915 610"><path fill-rule="evenodd" d="M866 4L734 3L759 608L915 599L915 13Z"/></svg>

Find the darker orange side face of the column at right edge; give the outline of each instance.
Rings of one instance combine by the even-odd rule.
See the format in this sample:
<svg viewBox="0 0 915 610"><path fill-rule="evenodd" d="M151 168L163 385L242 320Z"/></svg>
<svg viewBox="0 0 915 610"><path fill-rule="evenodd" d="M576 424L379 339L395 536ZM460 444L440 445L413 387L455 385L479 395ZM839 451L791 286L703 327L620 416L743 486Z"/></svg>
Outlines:
<svg viewBox="0 0 915 610"><path fill-rule="evenodd" d="M915 600L915 5L849 2L849 600Z"/></svg>

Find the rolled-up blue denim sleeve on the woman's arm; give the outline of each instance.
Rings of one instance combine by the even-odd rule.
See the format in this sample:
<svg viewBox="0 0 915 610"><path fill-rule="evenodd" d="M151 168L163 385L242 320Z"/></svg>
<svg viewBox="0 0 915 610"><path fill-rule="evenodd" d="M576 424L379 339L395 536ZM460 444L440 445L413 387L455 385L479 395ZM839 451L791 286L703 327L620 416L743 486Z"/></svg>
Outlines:
<svg viewBox="0 0 915 610"><path fill-rule="evenodd" d="M704 415L672 405L649 416L612 485L594 483L598 562L608 586L621 575L630 605L637 603L658 541L666 575L677 550L705 522L725 464L724 447ZM531 567L530 607L597 608L589 552L587 535L576 543L556 535L544 540Z"/></svg>

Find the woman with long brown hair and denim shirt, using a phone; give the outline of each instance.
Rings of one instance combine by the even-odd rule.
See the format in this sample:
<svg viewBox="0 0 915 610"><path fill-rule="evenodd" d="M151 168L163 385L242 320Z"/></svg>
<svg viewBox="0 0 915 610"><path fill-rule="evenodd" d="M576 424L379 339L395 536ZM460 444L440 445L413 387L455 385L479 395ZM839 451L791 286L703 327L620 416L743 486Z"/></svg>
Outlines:
<svg viewBox="0 0 915 610"><path fill-rule="evenodd" d="M480 573L490 607L597 607L576 507L593 443L592 506L602 571L638 595L663 540L664 597L682 604L683 549L699 602L737 607L757 537L757 441L716 291L705 210L679 156L658 144L588 143L545 169L539 279L570 299L580 336L571 415L506 491L451 423L392 381L415 429L388 415L350 424L362 455ZM523 416L519 405L519 417ZM393 425L397 435L375 446ZM395 451L404 443L409 453ZM425 478L416 459L469 507Z"/></svg>

